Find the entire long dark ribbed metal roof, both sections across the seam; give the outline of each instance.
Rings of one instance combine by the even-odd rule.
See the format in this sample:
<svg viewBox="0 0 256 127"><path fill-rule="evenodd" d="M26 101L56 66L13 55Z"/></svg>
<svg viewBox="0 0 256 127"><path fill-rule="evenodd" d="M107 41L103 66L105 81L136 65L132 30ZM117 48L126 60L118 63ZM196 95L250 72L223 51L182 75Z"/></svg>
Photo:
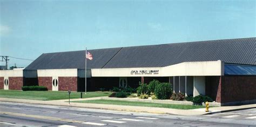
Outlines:
<svg viewBox="0 0 256 127"><path fill-rule="evenodd" d="M256 65L256 38L89 50L87 68L164 67L188 61ZM85 68L85 51L42 54L25 69Z"/></svg>

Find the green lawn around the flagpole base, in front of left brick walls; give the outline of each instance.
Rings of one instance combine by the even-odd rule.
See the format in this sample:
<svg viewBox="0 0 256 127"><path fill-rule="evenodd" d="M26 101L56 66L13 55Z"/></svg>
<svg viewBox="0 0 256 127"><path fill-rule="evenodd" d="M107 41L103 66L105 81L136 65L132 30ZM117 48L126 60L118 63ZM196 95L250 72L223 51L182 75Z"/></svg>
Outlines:
<svg viewBox="0 0 256 127"><path fill-rule="evenodd" d="M83 98L109 96L109 91L90 91ZM4 98L22 98L29 100L63 100L68 99L67 91L19 91L19 90L0 90L0 97ZM70 98L80 98L80 92L71 92Z"/></svg>

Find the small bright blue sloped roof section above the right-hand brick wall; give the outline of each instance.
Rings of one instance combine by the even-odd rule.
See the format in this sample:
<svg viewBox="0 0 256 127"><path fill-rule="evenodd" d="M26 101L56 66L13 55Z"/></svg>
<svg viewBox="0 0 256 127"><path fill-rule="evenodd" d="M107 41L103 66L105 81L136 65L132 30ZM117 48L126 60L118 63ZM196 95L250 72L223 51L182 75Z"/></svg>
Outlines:
<svg viewBox="0 0 256 127"><path fill-rule="evenodd" d="M256 66L225 64L225 75L256 75Z"/></svg>

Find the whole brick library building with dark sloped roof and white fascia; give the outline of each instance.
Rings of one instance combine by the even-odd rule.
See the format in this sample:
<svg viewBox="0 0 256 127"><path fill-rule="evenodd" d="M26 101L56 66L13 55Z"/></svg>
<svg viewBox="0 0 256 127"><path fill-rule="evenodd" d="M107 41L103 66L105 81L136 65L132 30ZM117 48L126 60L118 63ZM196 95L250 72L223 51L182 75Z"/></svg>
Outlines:
<svg viewBox="0 0 256 127"><path fill-rule="evenodd" d="M138 87L153 79L222 105L256 102L256 38L89 50L87 90ZM17 73L15 72L17 71ZM22 72L18 72L22 71ZM44 53L24 70L0 70L0 89L85 90L85 51Z"/></svg>

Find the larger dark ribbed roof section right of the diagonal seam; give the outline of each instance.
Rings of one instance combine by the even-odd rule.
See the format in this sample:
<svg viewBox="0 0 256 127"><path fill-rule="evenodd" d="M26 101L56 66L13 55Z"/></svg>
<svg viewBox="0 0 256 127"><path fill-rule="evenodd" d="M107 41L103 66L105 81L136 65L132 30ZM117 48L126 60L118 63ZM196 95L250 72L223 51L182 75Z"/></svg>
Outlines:
<svg viewBox="0 0 256 127"><path fill-rule="evenodd" d="M164 67L188 61L256 65L256 38L124 47L104 68Z"/></svg>

